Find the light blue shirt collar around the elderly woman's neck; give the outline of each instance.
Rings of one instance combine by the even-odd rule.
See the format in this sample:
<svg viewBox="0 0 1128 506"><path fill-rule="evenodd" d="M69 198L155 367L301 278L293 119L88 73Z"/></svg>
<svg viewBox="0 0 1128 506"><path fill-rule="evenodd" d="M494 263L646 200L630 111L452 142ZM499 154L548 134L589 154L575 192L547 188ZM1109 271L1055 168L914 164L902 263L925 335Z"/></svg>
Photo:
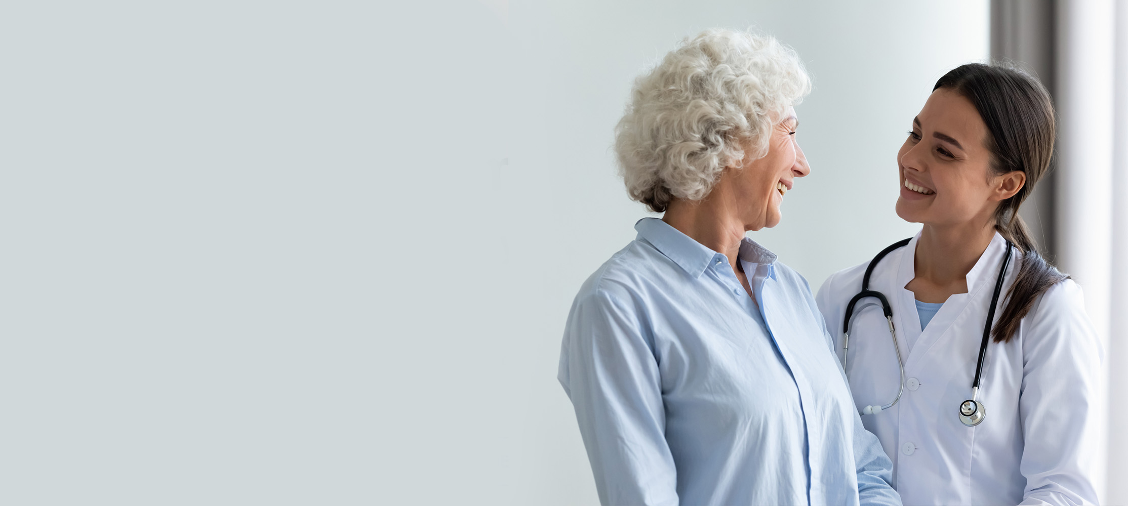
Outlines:
<svg viewBox="0 0 1128 506"><path fill-rule="evenodd" d="M638 239L649 242L695 278L708 268L714 258L719 255L724 256L656 218L638 220L635 230L638 231ZM772 264L776 260L774 252L747 237L740 242L740 252L737 256L754 264Z"/></svg>

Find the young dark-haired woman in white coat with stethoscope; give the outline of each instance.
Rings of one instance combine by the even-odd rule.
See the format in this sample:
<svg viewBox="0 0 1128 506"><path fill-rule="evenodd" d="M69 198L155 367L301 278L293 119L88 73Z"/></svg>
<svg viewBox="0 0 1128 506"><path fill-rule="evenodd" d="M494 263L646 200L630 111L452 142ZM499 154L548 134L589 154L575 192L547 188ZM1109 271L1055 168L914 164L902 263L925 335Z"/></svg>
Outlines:
<svg viewBox="0 0 1128 506"><path fill-rule="evenodd" d="M1017 214L1054 137L1034 78L952 70L897 153L897 214L920 232L819 290L907 505L1096 504L1102 350L1081 288L1039 255Z"/></svg>

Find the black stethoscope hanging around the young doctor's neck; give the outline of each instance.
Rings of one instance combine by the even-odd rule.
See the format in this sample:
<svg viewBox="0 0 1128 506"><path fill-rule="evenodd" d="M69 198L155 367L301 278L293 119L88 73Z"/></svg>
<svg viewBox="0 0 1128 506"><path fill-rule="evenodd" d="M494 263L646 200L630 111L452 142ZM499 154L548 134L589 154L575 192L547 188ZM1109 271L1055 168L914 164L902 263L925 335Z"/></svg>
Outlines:
<svg viewBox="0 0 1128 506"><path fill-rule="evenodd" d="M897 398L888 405L881 406L866 406L862 408L862 415L875 415L882 410L892 408L897 401L901 400L901 393L905 392L905 363L901 361L901 350L897 345L897 332L893 329L893 309L889 305L889 301L885 300L885 295L875 290L870 290L870 275L873 274L873 268L878 266L885 255L895 249L902 248L909 243L911 239L905 239L890 245L888 248L881 250L873 260L870 260L870 265L865 268L865 275L862 277L862 291L854 295L854 299L849 300L849 304L846 305L846 318L843 321L843 370L848 370L849 366L849 319L854 316L854 304L857 301L865 298L874 298L881 301L881 310L885 313L885 321L889 322L889 335L893 338L893 350L897 352L897 365L901 370L901 389L897 391ZM1003 266L998 269L998 279L995 281L995 294L990 299L990 308L987 310L987 322L984 325L984 338L982 343L979 344L979 363L976 364L976 379L971 383L971 399L960 402L960 421L968 427L975 427L982 423L984 417L987 414L984 411L984 403L979 399L979 380L982 376L984 371L984 358L987 357L987 343L990 340L990 327L992 321L995 320L995 305L998 304L998 294L1003 290L1003 276L1006 274L1006 267L1011 264L1011 241L1006 241L1006 256L1003 257Z"/></svg>

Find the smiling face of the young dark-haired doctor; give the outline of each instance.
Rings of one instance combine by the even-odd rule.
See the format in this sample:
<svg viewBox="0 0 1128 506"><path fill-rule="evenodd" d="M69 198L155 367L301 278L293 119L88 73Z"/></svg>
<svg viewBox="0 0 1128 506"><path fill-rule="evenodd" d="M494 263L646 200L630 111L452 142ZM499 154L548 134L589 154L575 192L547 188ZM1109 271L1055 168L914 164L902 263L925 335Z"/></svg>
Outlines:
<svg viewBox="0 0 1128 506"><path fill-rule="evenodd" d="M932 92L897 152L901 195L897 215L932 225L990 223L989 132L970 100L949 89Z"/></svg>

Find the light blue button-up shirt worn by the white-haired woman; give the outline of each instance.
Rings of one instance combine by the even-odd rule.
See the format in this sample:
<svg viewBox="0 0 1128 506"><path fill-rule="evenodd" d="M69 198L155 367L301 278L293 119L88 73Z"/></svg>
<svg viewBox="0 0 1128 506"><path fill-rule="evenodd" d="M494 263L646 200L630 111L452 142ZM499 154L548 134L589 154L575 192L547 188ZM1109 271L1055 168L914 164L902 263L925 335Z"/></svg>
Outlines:
<svg viewBox="0 0 1128 506"><path fill-rule="evenodd" d="M658 219L580 288L561 349L600 500L899 505L802 276Z"/></svg>

